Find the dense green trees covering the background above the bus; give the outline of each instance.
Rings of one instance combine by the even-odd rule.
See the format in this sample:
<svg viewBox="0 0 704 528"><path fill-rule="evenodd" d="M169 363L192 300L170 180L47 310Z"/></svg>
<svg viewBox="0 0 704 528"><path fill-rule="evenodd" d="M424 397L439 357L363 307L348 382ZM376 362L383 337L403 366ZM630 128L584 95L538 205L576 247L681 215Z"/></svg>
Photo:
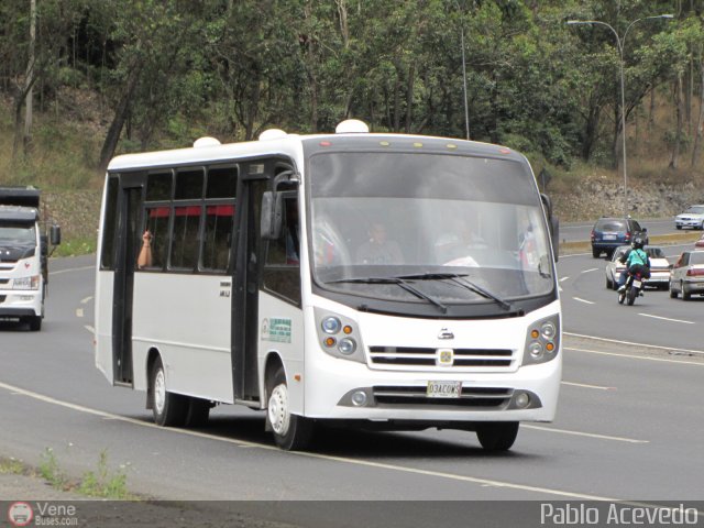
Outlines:
<svg viewBox="0 0 704 528"><path fill-rule="evenodd" d="M704 0L32 3L0 2L2 184L97 193L117 154L352 117L506 144L574 193L619 182L622 110L629 185L704 183ZM620 35L625 109L619 41L568 20Z"/></svg>

